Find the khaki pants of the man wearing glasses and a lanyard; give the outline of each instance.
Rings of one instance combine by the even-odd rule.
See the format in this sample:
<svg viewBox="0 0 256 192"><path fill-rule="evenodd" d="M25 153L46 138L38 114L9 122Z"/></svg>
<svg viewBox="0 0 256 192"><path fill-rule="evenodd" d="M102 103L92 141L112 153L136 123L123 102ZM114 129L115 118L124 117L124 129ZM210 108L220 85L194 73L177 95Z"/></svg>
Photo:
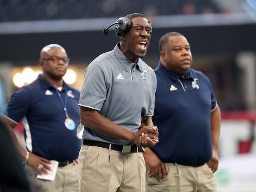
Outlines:
<svg viewBox="0 0 256 192"><path fill-rule="evenodd" d="M26 166L26 174L33 187L38 192L78 192L78 164L73 161L67 166L58 167L55 180L38 179L38 172Z"/></svg>

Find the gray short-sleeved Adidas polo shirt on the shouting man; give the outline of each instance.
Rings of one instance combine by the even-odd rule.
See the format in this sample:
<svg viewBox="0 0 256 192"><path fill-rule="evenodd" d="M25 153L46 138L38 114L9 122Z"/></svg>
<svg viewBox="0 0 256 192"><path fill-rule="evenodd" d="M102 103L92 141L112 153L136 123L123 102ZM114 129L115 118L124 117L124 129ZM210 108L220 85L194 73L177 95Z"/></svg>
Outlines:
<svg viewBox="0 0 256 192"><path fill-rule="evenodd" d="M115 124L137 131L142 117L153 116L157 79L154 71L142 59L132 63L119 49L95 58L86 68L79 105L98 110ZM84 125L79 125L81 139L119 145L128 141L104 137Z"/></svg>

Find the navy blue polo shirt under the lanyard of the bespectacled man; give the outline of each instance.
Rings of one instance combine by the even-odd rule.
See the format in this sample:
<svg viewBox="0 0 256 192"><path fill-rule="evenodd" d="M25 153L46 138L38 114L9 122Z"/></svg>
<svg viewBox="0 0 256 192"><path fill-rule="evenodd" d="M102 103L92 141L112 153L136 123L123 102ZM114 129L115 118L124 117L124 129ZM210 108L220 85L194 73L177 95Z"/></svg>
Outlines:
<svg viewBox="0 0 256 192"><path fill-rule="evenodd" d="M79 125L79 90L63 85L61 98L65 100L67 89L67 113ZM65 127L66 115L55 87L41 75L34 82L17 90L10 98L3 116L12 122L22 120L26 148L33 154L48 160L73 160L78 157L81 140L76 128Z"/></svg>

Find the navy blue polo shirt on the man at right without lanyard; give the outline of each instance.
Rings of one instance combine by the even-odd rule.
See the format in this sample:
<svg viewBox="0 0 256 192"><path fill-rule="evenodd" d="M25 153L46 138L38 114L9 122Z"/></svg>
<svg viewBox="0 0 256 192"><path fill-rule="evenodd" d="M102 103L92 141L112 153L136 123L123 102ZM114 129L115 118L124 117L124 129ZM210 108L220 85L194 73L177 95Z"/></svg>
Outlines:
<svg viewBox="0 0 256 192"><path fill-rule="evenodd" d="M208 162L212 157L211 111L216 107L209 79L193 69L181 78L161 63L154 72L157 90L152 119L160 142L151 149L164 163Z"/></svg>

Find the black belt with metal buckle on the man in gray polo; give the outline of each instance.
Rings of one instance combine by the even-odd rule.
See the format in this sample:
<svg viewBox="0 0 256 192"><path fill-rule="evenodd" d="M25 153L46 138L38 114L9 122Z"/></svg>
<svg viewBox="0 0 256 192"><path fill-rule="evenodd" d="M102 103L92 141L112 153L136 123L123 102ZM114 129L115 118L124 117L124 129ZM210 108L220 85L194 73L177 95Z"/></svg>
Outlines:
<svg viewBox="0 0 256 192"><path fill-rule="evenodd" d="M110 143L93 141L93 140L83 140L83 145L97 146L103 148L109 148ZM137 150L138 148L138 150ZM111 144L111 149L115 151L121 151L122 153L136 153L143 152L144 149L139 145L115 145Z"/></svg>

